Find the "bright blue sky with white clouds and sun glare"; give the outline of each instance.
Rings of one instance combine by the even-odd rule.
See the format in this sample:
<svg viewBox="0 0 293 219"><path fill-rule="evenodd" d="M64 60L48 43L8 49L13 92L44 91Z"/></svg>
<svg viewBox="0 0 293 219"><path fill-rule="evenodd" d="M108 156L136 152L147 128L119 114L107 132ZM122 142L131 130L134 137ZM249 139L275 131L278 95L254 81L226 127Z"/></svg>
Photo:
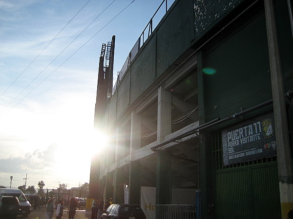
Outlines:
<svg viewBox="0 0 293 219"><path fill-rule="evenodd" d="M89 182L90 156L100 146L93 118L102 43L116 36L115 83L161 0L87 2L0 0L0 185L9 186L13 176L18 187L26 173L27 185L42 180L47 188ZM162 16L159 11L157 22Z"/></svg>

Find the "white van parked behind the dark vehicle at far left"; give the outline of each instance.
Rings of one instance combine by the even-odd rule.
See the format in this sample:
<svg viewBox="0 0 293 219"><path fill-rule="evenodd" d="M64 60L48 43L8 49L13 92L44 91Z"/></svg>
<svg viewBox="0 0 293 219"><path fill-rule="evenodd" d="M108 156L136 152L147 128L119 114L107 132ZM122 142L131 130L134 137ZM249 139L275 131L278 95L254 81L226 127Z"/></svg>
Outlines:
<svg viewBox="0 0 293 219"><path fill-rule="evenodd" d="M0 188L0 197L2 196L16 196L21 204L21 215L26 217L31 213L32 206L20 189Z"/></svg>

